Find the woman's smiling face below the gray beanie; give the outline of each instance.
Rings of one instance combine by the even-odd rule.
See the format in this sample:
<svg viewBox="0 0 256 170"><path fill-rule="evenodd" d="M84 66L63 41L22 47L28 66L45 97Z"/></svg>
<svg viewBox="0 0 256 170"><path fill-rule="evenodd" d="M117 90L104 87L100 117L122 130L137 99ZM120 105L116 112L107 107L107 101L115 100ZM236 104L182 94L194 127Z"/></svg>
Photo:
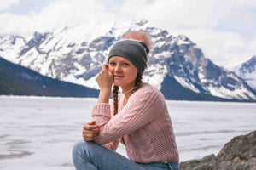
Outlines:
<svg viewBox="0 0 256 170"><path fill-rule="evenodd" d="M131 64L131 61L120 56L113 56L109 59L108 68L113 74L115 86L120 86L123 91L134 87L137 68Z"/></svg>

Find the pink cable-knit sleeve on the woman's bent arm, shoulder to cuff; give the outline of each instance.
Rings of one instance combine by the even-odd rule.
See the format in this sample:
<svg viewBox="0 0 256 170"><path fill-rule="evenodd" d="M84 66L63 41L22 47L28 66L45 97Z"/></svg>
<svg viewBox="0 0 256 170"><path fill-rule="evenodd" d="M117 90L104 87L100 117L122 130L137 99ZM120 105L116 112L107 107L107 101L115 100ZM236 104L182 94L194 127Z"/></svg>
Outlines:
<svg viewBox="0 0 256 170"><path fill-rule="evenodd" d="M111 118L110 105L98 104L92 116L99 122L97 144L108 144L143 127L159 116L163 100L156 89L141 89L132 94L125 107ZM165 102L165 101L164 101Z"/></svg>

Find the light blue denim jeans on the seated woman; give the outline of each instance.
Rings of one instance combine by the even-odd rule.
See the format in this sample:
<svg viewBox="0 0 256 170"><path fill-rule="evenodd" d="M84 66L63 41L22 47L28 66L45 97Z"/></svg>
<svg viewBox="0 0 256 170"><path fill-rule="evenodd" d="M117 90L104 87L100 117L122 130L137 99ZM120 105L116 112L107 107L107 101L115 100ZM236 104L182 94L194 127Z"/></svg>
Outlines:
<svg viewBox="0 0 256 170"><path fill-rule="evenodd" d="M94 142L80 141L73 146L76 170L178 170L177 163L136 163Z"/></svg>

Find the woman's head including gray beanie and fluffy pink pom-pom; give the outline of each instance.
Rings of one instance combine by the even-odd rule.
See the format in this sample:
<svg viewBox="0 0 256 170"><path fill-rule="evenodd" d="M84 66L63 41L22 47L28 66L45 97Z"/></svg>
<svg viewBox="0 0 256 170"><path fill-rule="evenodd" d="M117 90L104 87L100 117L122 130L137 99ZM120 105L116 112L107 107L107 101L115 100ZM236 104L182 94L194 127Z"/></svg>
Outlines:
<svg viewBox="0 0 256 170"><path fill-rule="evenodd" d="M113 45L108 54L108 63L115 86L121 86L123 90L134 86L137 73L142 74L147 67L149 40L146 32L129 31Z"/></svg>

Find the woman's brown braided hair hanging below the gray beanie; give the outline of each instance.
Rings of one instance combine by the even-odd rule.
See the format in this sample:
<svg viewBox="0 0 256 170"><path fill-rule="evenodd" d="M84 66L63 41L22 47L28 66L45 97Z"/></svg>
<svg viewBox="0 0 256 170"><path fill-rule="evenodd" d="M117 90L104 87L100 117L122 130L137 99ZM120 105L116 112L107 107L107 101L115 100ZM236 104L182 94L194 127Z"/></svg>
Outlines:
<svg viewBox="0 0 256 170"><path fill-rule="evenodd" d="M138 72L137 77L135 79L135 85L133 90L131 91L131 94L136 92L137 89L141 88L142 82L143 82L142 80L143 80L143 74L141 72ZM119 86L113 86L113 115L118 114L118 111L119 111L118 98L119 98ZM123 144L125 144L125 140L123 137L122 137L122 142Z"/></svg>

